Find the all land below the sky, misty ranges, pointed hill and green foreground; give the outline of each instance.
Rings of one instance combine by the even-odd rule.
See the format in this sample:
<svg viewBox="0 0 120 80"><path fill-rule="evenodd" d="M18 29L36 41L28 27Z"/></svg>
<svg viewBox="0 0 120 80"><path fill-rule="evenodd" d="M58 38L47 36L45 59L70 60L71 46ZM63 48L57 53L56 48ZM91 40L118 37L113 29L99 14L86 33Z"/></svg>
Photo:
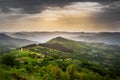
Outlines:
<svg viewBox="0 0 120 80"><path fill-rule="evenodd" d="M120 80L120 33L0 33L0 80Z"/></svg>

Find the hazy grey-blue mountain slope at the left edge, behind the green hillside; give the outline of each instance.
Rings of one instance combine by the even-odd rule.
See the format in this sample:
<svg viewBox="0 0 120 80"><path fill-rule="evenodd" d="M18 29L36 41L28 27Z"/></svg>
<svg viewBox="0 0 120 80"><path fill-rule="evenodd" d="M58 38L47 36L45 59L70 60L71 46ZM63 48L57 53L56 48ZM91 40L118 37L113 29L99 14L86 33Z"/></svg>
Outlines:
<svg viewBox="0 0 120 80"><path fill-rule="evenodd" d="M3 33L0 34L0 52L33 43L35 42L25 39L13 38Z"/></svg>

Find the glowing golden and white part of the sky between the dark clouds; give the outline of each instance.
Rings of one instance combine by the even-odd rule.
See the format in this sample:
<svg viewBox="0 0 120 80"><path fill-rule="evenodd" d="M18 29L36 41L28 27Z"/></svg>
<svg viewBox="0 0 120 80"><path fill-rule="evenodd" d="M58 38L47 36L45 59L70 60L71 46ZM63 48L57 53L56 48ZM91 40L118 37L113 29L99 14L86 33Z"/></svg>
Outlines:
<svg viewBox="0 0 120 80"><path fill-rule="evenodd" d="M48 7L39 14L4 21L3 26L13 27L8 31L104 32L109 31L108 25L93 20L103 7L97 2L76 2L63 8Z"/></svg>

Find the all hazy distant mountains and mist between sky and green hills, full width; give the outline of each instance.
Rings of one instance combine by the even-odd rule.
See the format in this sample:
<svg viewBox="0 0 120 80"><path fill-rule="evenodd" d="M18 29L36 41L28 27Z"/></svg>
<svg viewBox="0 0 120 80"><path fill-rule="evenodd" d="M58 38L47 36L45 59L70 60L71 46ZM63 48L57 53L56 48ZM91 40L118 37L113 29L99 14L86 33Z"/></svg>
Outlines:
<svg viewBox="0 0 120 80"><path fill-rule="evenodd" d="M14 48L22 47L25 45L30 45L33 43L45 43L58 36L64 37L66 39L75 40L78 42L81 42L81 41L90 42L91 44L101 43L102 45L102 43L105 43L108 45L118 45L118 46L120 45L120 33L108 33L108 32L106 33L84 33L84 32L16 32L16 33L10 33L9 32L8 33L6 32L6 33L0 33L0 51L14 49ZM42 44L42 45L49 46L49 47L57 46L61 48L62 50L72 52L71 49L67 49L67 48L64 49L64 47L61 46L59 43L47 44L47 45ZM102 47L104 46L102 45Z"/></svg>

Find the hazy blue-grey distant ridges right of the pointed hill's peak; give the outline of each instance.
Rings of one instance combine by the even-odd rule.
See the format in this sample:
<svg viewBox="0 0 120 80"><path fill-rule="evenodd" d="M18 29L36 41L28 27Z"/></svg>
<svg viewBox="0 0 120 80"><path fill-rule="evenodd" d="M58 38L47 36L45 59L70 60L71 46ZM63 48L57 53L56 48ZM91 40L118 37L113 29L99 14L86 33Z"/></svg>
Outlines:
<svg viewBox="0 0 120 80"><path fill-rule="evenodd" d="M77 37L73 37L73 39L84 42L120 45L120 33L96 33L91 35L83 34Z"/></svg>

